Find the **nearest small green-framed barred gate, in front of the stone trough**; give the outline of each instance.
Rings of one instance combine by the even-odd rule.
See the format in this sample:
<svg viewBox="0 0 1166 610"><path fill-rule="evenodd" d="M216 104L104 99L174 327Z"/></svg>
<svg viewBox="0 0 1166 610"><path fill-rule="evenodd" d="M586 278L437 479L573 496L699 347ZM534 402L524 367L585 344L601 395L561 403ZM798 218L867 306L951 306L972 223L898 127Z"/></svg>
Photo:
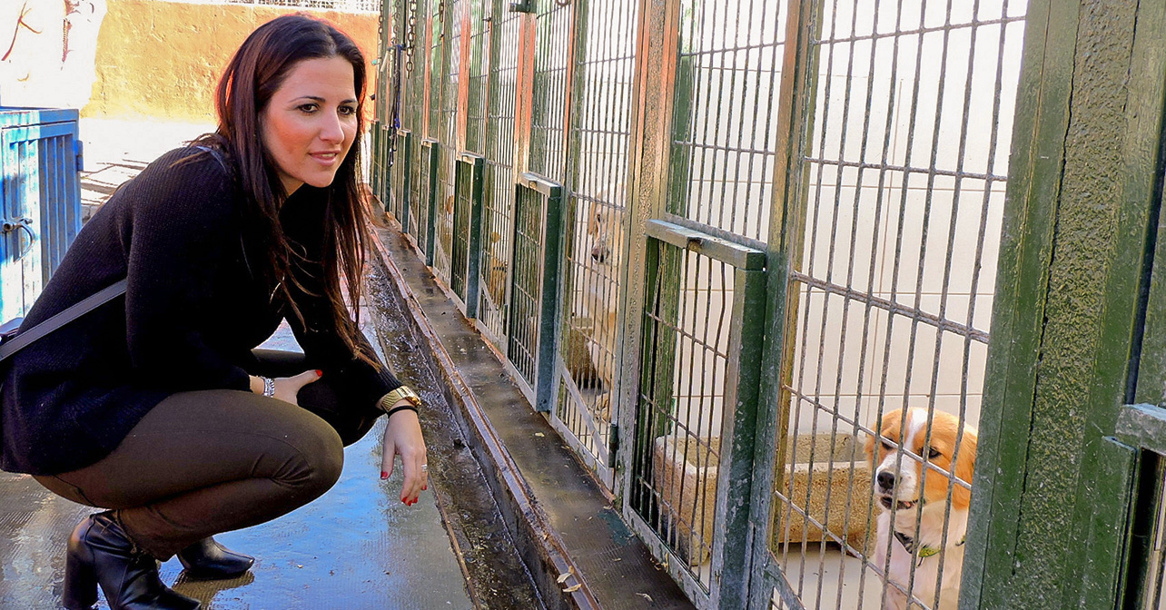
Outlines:
<svg viewBox="0 0 1166 610"><path fill-rule="evenodd" d="M647 231L632 525L698 607L745 608L765 254Z"/></svg>

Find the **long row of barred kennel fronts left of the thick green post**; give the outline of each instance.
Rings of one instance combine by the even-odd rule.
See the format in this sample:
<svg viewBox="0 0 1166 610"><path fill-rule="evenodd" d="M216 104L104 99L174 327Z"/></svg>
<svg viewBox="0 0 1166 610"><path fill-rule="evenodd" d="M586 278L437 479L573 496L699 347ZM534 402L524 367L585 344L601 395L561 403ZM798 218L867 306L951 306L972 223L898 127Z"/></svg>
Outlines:
<svg viewBox="0 0 1166 610"><path fill-rule="evenodd" d="M1025 2L417 5L381 183L697 607L947 608Z"/></svg>

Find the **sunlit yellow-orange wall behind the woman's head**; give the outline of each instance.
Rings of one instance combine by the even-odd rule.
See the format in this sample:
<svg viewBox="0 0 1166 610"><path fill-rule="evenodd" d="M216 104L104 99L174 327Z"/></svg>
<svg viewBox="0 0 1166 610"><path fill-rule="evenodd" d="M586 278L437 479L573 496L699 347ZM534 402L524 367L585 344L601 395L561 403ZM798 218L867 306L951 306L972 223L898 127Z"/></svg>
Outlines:
<svg viewBox="0 0 1166 610"><path fill-rule="evenodd" d="M294 8L108 0L97 40L97 83L84 117L153 117L212 122L215 85L257 27ZM352 37L371 62L378 16L304 10ZM372 87L374 72L367 70Z"/></svg>

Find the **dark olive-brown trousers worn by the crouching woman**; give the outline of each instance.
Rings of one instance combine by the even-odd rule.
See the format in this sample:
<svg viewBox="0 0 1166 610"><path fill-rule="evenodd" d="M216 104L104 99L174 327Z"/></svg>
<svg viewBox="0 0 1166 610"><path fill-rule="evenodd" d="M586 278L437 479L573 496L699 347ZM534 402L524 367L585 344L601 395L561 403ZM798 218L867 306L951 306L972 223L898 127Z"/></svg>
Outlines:
<svg viewBox="0 0 1166 610"><path fill-rule="evenodd" d="M310 370L298 353L255 356L252 374ZM133 544L164 561L209 535L286 514L336 484L344 446L363 437L375 414L351 408L326 378L296 400L298 407L234 390L173 394L101 461L36 481L70 500L114 509Z"/></svg>

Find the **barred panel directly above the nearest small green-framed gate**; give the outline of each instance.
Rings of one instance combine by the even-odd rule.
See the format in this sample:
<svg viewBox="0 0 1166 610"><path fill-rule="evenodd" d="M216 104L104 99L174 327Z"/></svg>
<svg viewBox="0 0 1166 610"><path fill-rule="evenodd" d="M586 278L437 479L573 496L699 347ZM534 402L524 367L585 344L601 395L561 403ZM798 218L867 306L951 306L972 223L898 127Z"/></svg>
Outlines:
<svg viewBox="0 0 1166 610"><path fill-rule="evenodd" d="M786 2L683 2L669 211L765 241ZM759 112L763 111L763 112Z"/></svg>

